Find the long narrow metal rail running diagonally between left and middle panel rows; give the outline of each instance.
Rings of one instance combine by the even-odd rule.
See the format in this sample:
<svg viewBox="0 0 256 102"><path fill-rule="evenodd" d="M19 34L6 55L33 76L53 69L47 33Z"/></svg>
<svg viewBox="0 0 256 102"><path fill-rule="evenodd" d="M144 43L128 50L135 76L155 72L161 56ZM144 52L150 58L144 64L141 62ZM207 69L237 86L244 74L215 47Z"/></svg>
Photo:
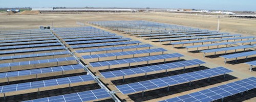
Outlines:
<svg viewBox="0 0 256 102"><path fill-rule="evenodd" d="M71 52L71 50L65 45L63 44L59 39L58 37L53 34L54 31L51 31L51 34L55 37L56 40L58 40L58 42L63 46L65 47L65 49L68 50L68 52L76 59L77 63L80 64L81 66L83 66L83 69L86 70L90 75L92 75L92 77L94 78L95 82L101 87L101 88L104 88L106 91L108 91L112 97L113 100L117 101L117 102L121 102L119 100L119 98L117 98L117 96L115 95L115 93L113 93L113 91L109 90L97 77L96 75L94 75L89 69L88 69L88 66L87 65L83 65L83 63L80 61L80 58L76 57L74 55L73 52Z"/></svg>

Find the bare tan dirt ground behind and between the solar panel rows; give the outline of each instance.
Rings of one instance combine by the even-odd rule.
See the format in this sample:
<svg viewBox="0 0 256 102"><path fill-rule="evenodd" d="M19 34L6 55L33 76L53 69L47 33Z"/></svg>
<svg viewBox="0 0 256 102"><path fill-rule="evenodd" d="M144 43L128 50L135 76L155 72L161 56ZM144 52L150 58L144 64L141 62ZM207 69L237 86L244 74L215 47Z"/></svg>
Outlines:
<svg viewBox="0 0 256 102"><path fill-rule="evenodd" d="M169 24L179 24L184 25L188 27L195 27L200 29L208 29L208 30L216 30L217 29L217 17L210 17L210 16L202 16L202 15L191 15L191 14L180 14L180 13L89 13L89 14L48 14L48 15L0 15L0 31L1 30L14 30L14 29L38 29L40 25L54 25L54 27L80 27L81 25L76 24L76 21L84 22L87 21L105 21L105 20L148 20L148 21L156 21L156 22L162 22L162 23L169 23ZM89 25L89 24L88 24ZM91 25L93 26L93 25ZM100 28L97 26L93 26L96 28ZM220 18L220 32L228 32L231 34L243 34L245 36L256 36L256 20L252 19L231 19L231 18ZM100 28L105 31L113 32L108 29ZM217 57L217 58L209 58L206 57L203 58L203 53L187 53L186 49L179 49L179 48L172 48L172 45L162 45L159 42L151 42L150 40L143 40L141 38L137 38L135 36L129 36L126 34L122 34L120 32L113 32L118 35L132 38L133 40L139 40L143 43L152 44L155 47L162 47L168 50L166 53L180 53L184 55L183 59L189 60L189 59L200 59L207 64L204 64L203 66L208 68L214 68L223 66L228 69L233 70L233 72L229 73L230 76L228 79L224 80L221 79L221 81L218 81L218 78L213 78L211 83L207 83L204 81L197 81L194 82L195 85L193 88L183 88L187 87L187 85L177 85L172 86L175 90L175 92L166 92L163 94L158 94L161 97L147 97L146 100L148 101L159 101L175 96L184 95L191 92L196 92L199 90L203 90L205 88L210 88L222 84L226 84L229 82L241 80L248 77L256 77L256 71L249 71L249 65L243 64L243 63L236 63L233 64L224 64L224 59ZM238 50L242 51L242 50ZM231 53L231 52L229 52ZM222 52L223 54L223 52ZM210 54L209 54L210 55ZM213 55L213 54L211 54ZM79 55L78 55L79 56ZM241 61L242 62L242 61ZM88 62L87 62L88 63ZM203 68L202 68L203 69ZM94 70L91 68L94 72L96 72L96 75L99 75L98 70ZM195 71L198 70L196 68L188 69L185 72L189 71ZM255 68L254 68L255 70ZM183 71L172 71L174 73L183 73ZM164 73L164 71L161 71L161 73ZM154 77L159 77L159 75L162 74L151 74L149 75L148 79L153 79ZM127 83L133 82L134 79L139 79L140 81L144 80L142 77L139 77L143 75L134 75L131 76L131 79L127 78L125 79ZM133 79L133 77L136 77ZM102 82L108 83L109 88L114 90L114 84L118 85L120 84L119 79L103 79L101 78ZM114 83L114 84L113 84ZM196 84L198 83L198 84ZM123 83L121 83L123 84ZM181 88L182 87L182 88ZM182 89L182 90L181 90ZM193 90L191 90L193 89ZM161 93L163 89L157 89L156 93ZM156 94L154 92L148 92L146 94ZM125 100L136 100L136 101L144 101L143 99L138 99L140 97L141 93L138 94L132 94L129 97L127 95L122 95L121 93L117 93L119 97ZM252 95L255 96L255 95ZM237 97L234 97L237 98ZM228 99L227 99L228 100ZM250 99L241 99L245 101L255 101L256 97L251 97ZM238 100L239 101L239 100Z"/></svg>

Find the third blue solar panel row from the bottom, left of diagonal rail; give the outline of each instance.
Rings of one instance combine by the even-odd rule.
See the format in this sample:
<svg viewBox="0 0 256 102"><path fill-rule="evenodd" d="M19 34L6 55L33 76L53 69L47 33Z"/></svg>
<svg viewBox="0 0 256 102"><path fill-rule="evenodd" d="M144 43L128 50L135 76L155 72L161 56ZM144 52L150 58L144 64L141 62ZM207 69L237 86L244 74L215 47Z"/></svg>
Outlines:
<svg viewBox="0 0 256 102"><path fill-rule="evenodd" d="M74 69L83 69L83 67L79 64L76 64L76 65L66 65L66 66L58 66L58 67L31 69L31 70L2 72L2 73L0 73L0 78L9 78L9 77L31 75L31 74L74 70Z"/></svg>

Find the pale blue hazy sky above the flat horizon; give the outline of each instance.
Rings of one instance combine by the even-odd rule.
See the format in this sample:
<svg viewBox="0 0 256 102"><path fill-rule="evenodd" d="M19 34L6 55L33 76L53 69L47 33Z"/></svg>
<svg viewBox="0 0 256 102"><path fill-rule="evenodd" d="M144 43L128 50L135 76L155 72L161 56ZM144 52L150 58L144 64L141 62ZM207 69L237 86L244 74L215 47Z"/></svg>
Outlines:
<svg viewBox="0 0 256 102"><path fill-rule="evenodd" d="M123 7L256 11L256 0L0 0L4 7Z"/></svg>

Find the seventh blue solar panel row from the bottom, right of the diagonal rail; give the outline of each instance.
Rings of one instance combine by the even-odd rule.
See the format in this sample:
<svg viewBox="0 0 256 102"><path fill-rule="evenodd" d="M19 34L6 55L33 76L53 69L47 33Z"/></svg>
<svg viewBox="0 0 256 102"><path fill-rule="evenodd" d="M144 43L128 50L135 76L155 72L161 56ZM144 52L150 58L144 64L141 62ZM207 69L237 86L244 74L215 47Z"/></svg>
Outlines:
<svg viewBox="0 0 256 102"><path fill-rule="evenodd" d="M100 46L114 46L114 45L127 45L127 44L138 44L140 41L125 41L125 42L109 42L109 43L96 43L87 45L72 45L72 48L83 48L83 47L100 47Z"/></svg>

